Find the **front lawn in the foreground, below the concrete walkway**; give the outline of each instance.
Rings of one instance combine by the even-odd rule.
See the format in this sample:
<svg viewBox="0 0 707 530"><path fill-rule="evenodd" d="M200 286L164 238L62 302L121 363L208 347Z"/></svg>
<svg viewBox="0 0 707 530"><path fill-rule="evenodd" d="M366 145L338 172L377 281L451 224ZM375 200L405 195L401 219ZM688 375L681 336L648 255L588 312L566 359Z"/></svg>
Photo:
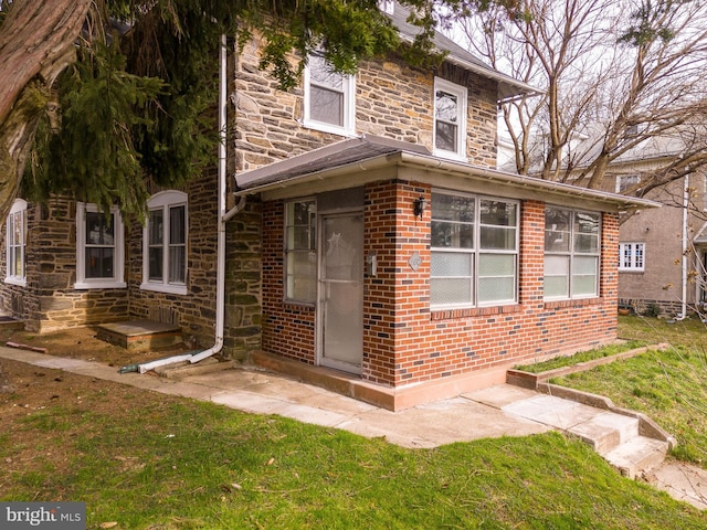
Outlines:
<svg viewBox="0 0 707 530"><path fill-rule="evenodd" d="M161 400L161 402L160 402ZM119 529L705 528L707 516L619 476L557 433L404 449L384 439L156 395L149 410L46 407L21 428L44 439L1 500L81 500L87 527ZM12 433L0 457L12 459ZM52 460L54 438L70 462Z"/></svg>

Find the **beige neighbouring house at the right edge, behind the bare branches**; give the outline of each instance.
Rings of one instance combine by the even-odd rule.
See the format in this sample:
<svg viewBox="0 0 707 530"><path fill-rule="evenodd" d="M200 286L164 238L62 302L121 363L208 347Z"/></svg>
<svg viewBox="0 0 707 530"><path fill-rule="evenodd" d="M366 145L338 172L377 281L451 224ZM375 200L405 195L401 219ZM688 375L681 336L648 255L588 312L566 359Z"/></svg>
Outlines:
<svg viewBox="0 0 707 530"><path fill-rule="evenodd" d="M679 158L684 150L679 138L645 140L611 165L609 186L618 193L640 191L657 168ZM705 170L695 170L645 193L662 208L622 215L620 306L677 318L701 311L707 279L706 186Z"/></svg>

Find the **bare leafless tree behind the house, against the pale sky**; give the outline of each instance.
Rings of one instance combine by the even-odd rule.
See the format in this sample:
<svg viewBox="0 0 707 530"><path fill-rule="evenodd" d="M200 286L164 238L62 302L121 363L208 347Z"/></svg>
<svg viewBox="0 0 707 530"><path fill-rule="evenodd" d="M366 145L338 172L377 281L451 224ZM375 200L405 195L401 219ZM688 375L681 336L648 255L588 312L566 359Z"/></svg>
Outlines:
<svg viewBox="0 0 707 530"><path fill-rule="evenodd" d="M656 138L679 144L642 176L645 194L707 163L704 3L527 0L524 9L528 18L490 10L464 20L477 53L546 91L503 106L518 172L605 188L622 156Z"/></svg>

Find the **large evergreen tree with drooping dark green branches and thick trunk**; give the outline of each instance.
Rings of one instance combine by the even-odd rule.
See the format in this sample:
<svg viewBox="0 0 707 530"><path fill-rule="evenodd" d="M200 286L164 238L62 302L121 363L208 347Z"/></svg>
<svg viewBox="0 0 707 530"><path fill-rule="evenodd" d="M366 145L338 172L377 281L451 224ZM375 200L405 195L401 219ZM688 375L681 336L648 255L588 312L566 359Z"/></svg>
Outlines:
<svg viewBox="0 0 707 530"><path fill-rule="evenodd" d="M422 30L412 44L378 0L0 0L0 219L23 178L30 199L71 193L139 215L146 178L177 184L212 163L218 138L205 110L221 34L262 35L261 67L288 89L304 67L293 52L321 45L346 73L390 52L439 61L429 52L440 6L477 9L476 0L402 3Z"/></svg>

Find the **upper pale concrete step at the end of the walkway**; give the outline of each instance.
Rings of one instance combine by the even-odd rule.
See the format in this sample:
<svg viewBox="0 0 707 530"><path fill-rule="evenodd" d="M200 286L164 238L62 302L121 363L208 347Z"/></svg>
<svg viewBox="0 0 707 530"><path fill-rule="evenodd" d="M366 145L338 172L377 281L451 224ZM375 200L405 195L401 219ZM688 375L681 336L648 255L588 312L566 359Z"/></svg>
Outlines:
<svg viewBox="0 0 707 530"><path fill-rule="evenodd" d="M568 433L578 436L604 456L639 436L640 421L636 417L602 412L585 422L568 428Z"/></svg>

